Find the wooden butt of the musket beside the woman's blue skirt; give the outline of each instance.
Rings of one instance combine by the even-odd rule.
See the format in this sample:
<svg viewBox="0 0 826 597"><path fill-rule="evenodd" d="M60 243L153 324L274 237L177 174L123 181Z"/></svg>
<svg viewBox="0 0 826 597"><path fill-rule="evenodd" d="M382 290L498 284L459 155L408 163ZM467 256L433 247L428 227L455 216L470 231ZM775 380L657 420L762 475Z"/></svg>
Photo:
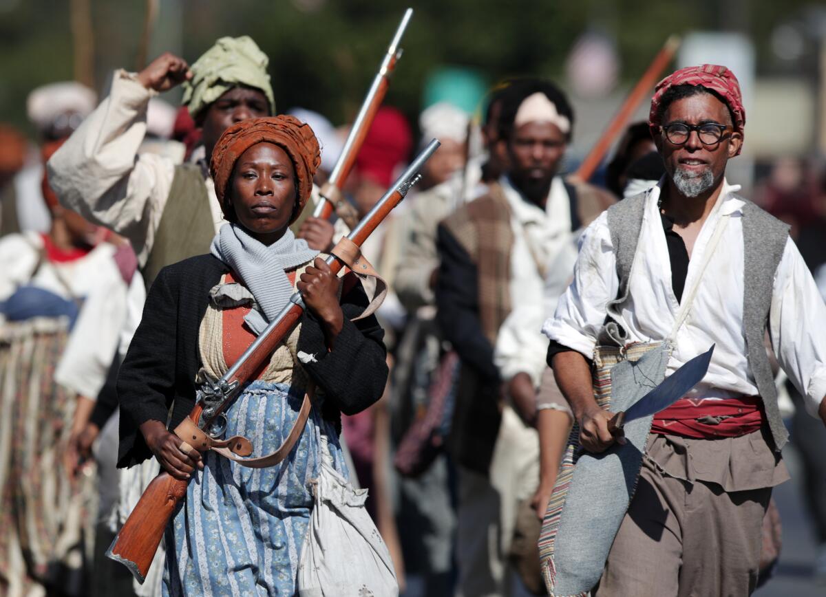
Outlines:
<svg viewBox="0 0 826 597"><path fill-rule="evenodd" d="M129 568L141 585L150 571L169 519L178 502L187 495L187 484L168 472L162 471L156 476L106 552L107 557Z"/></svg>

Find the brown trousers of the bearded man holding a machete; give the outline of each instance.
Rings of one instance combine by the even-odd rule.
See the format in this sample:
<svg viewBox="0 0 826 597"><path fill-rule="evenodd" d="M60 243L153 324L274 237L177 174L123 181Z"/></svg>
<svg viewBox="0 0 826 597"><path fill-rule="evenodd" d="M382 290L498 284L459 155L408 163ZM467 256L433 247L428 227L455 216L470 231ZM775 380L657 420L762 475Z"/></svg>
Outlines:
<svg viewBox="0 0 826 597"><path fill-rule="evenodd" d="M757 585L771 487L725 492L643 459L595 597L738 597Z"/></svg>

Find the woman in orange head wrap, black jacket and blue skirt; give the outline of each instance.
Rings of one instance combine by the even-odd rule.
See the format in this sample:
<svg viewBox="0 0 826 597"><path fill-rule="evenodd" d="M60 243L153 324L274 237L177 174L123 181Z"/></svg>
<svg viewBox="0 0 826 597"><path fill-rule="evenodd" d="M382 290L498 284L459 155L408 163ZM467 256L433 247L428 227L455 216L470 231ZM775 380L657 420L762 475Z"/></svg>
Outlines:
<svg viewBox="0 0 826 597"><path fill-rule="evenodd" d="M322 451L347 476L339 413L354 414L382 395L382 329L372 315L351 321L368 305L363 289L343 291L339 302L339 280L289 230L319 163L311 128L292 116L225 131L210 169L230 224L211 254L161 270L121 367L121 420L128 422L121 424L118 466L154 455L176 478L192 477L167 528L164 586L173 595L293 595ZM216 452L183 452L165 425L169 409L175 429L195 405L196 384L221 377L296 289L306 303L301 322L242 386L225 411L224 433L249 438L253 457L273 452L312 381L323 396L292 452L260 470Z"/></svg>

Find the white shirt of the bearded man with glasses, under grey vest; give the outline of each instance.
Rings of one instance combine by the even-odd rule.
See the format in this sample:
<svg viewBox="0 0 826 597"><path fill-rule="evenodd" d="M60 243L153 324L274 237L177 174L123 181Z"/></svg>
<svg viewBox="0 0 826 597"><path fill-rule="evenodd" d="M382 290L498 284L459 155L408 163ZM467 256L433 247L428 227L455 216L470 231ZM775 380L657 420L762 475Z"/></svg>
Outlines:
<svg viewBox="0 0 826 597"><path fill-rule="evenodd" d="M700 266L717 221L727 222L710 255L691 311L676 330L667 374L716 344L709 372L689 396L753 396L757 386L748 368L743 330L743 201L738 186L724 182L719 209L703 224L691 253L684 299L700 277ZM638 239L636 263L629 277L629 301L621 315L629 342L667 339L680 304L672 291L671 263L657 209L660 187L648 192ZM556 314L545 322L550 339L591 358L605 319L605 305L619 290L607 216L586 229L571 286ZM772 287L769 330L781 367L814 410L826 396L826 306L809 269L791 239L786 241Z"/></svg>

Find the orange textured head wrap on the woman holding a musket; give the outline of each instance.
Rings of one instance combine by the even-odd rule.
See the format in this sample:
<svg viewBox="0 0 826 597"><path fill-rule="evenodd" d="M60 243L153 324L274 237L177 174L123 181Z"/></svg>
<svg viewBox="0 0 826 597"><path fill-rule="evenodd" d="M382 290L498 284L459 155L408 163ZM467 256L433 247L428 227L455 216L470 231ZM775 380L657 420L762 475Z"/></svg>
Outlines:
<svg viewBox="0 0 826 597"><path fill-rule="evenodd" d="M232 201L229 197L230 179L235 162L244 151L259 143L272 143L287 152L296 168L297 205L290 224L304 209L312 192L312 179L321 163L321 152L309 125L295 116L268 116L240 121L230 126L212 149L210 173L215 181L215 194L221 211L227 216Z"/></svg>

